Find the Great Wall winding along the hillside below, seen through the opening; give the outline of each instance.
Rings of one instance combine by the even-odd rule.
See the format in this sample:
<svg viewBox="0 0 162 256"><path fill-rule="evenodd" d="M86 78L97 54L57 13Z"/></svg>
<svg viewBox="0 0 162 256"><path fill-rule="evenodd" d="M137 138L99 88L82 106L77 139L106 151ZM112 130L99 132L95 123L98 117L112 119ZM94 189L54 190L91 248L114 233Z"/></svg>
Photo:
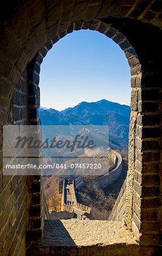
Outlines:
<svg viewBox="0 0 162 256"><path fill-rule="evenodd" d="M104 171L101 171L99 176L93 177L96 181L96 184L99 185L100 188L103 189L108 185L112 184L121 175L122 157L118 152L112 150L112 148L99 147L99 148L96 148L95 150L88 150L85 148L84 154L87 155L89 158L91 157L109 158L113 163L111 166L109 166L109 168L107 168ZM66 177L66 179L63 180L63 185L62 185L61 211L59 212L52 211L49 213L48 207L45 202L45 218L50 220L58 220L58 219L66 220L69 218L79 218L79 220L91 219L91 208L87 207L86 205L78 203L76 199L75 177L71 177L71 181L69 181L69 179L67 178L70 179L70 176ZM69 202L71 201L71 204L68 203L68 201ZM114 219L116 219L116 215L118 215L118 211L121 208L118 209L116 205L115 209L116 210L113 210L111 213L111 216Z"/></svg>

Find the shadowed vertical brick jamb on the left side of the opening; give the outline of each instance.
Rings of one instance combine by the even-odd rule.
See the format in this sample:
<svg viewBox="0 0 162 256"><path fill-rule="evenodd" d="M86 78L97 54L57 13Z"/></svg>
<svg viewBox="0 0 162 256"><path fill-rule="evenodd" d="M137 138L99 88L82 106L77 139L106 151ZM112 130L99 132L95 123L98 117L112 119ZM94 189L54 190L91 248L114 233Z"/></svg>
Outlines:
<svg viewBox="0 0 162 256"><path fill-rule="evenodd" d="M37 127L37 133L41 133L41 121L38 109L40 108L40 89L39 89L39 76L37 72L40 65L35 63L35 72L33 72L33 63L29 63L28 69L28 118L29 125ZM41 156L41 151L37 152L37 156ZM33 159L32 159L33 161ZM35 164L39 166L41 159L34 160ZM39 240L42 237L44 228L44 191L43 191L43 178L42 170L31 171L27 180L28 185L28 224L26 232L27 245L29 246L32 241Z"/></svg>

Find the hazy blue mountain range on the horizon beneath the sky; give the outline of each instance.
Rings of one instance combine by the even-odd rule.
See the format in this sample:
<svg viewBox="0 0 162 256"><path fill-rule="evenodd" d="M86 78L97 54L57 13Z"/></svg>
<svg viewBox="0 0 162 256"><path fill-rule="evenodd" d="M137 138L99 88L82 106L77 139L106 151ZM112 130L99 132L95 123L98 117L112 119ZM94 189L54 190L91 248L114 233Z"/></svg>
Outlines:
<svg viewBox="0 0 162 256"><path fill-rule="evenodd" d="M61 112L39 109L42 125L109 125L109 146L120 150L127 150L130 112L130 106L107 100L83 101Z"/></svg>

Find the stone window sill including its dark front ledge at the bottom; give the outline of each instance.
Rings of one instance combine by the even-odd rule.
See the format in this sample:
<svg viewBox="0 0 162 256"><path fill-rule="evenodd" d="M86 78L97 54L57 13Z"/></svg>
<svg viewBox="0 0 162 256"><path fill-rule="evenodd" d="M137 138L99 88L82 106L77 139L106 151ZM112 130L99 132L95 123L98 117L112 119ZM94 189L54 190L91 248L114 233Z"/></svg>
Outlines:
<svg viewBox="0 0 162 256"><path fill-rule="evenodd" d="M151 256L156 248L139 245L121 221L45 220L44 236L27 256Z"/></svg>

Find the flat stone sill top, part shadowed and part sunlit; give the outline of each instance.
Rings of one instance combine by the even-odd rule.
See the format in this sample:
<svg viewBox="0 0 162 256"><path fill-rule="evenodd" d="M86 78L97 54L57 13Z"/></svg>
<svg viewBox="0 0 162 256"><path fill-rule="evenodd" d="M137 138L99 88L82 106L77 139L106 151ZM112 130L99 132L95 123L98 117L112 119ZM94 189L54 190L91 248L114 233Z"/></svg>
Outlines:
<svg viewBox="0 0 162 256"><path fill-rule="evenodd" d="M124 222L103 220L45 220L39 246L91 246L113 243L138 244Z"/></svg>

